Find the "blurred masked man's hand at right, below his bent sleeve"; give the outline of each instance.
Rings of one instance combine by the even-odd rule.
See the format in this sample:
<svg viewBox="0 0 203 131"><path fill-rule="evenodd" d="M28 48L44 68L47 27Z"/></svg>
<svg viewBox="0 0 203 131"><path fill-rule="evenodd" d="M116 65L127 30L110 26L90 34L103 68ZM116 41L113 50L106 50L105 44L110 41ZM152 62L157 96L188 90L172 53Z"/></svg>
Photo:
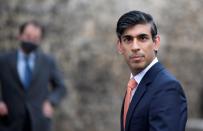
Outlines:
<svg viewBox="0 0 203 131"><path fill-rule="evenodd" d="M45 117L52 118L54 114L54 108L49 101L45 101L43 104L43 113Z"/></svg>

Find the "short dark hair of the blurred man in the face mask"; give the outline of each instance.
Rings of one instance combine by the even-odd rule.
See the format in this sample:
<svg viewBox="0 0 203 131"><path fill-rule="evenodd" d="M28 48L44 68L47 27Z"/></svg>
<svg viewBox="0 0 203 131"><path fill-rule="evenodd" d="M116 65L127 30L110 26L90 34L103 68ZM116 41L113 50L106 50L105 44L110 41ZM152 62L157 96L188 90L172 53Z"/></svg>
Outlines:
<svg viewBox="0 0 203 131"><path fill-rule="evenodd" d="M30 21L26 21L24 22L22 25L20 25L19 27L19 34L21 35L24 31L25 31L25 28L28 26L28 25L34 25L35 27L39 28L41 30L41 33L42 33L42 38L44 37L45 35L45 29L44 27L42 26L41 23L39 23L38 21L36 20L30 20Z"/></svg>

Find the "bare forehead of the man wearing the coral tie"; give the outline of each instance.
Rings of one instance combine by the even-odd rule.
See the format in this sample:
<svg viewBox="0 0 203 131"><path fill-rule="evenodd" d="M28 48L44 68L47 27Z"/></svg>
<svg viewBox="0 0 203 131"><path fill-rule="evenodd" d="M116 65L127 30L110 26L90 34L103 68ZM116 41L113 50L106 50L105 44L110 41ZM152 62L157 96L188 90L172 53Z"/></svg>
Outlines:
<svg viewBox="0 0 203 131"><path fill-rule="evenodd" d="M130 35L130 36L138 36L140 34L146 34L151 36L151 25L150 24L137 24L132 27L129 27L123 33L123 36Z"/></svg>

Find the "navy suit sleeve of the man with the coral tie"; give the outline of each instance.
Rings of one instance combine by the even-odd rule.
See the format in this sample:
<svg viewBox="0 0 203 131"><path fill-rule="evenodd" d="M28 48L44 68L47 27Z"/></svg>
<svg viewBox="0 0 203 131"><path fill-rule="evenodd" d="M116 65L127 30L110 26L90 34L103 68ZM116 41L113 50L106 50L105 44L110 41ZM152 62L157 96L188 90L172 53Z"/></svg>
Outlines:
<svg viewBox="0 0 203 131"><path fill-rule="evenodd" d="M185 131L187 104L177 81L162 84L152 99L149 111L150 131Z"/></svg>

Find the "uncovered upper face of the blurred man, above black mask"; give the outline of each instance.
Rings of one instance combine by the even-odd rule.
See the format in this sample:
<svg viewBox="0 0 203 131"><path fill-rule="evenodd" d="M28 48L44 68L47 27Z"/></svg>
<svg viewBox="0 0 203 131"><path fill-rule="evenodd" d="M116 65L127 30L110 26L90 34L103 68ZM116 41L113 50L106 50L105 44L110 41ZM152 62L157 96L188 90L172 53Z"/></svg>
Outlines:
<svg viewBox="0 0 203 131"><path fill-rule="evenodd" d="M39 27L28 24L22 34L19 35L20 41L32 42L39 44L41 41L42 32Z"/></svg>

